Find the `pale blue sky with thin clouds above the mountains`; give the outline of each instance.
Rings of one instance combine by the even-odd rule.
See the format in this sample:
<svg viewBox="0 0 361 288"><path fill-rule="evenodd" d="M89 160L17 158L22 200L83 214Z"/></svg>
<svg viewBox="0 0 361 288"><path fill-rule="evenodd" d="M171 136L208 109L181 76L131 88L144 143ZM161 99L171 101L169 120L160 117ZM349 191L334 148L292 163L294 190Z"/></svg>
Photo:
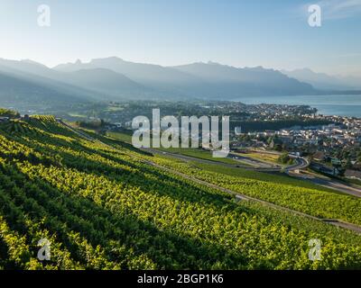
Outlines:
<svg viewBox="0 0 361 288"><path fill-rule="evenodd" d="M40 4L50 27L38 25ZM0 58L49 67L117 56L361 76L361 0L0 0L0 39Z"/></svg>

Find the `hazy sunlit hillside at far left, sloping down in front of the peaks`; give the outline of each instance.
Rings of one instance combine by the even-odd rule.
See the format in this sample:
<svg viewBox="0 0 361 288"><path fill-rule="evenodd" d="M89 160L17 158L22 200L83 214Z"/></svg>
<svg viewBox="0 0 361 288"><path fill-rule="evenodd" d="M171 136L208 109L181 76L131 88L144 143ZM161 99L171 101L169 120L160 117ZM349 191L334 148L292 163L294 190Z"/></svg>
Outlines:
<svg viewBox="0 0 361 288"><path fill-rule="evenodd" d="M30 60L0 58L0 90L7 106L69 106L97 99L98 94L86 87L64 82L63 75Z"/></svg>

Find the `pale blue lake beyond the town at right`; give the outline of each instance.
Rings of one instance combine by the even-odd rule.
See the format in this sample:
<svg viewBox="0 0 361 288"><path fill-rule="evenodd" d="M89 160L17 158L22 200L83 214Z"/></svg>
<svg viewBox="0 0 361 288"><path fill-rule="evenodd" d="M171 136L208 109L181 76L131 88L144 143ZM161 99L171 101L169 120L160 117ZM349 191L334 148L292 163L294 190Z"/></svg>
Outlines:
<svg viewBox="0 0 361 288"><path fill-rule="evenodd" d="M237 98L236 101L246 104L310 105L317 108L320 114L361 118L361 94L241 97Z"/></svg>

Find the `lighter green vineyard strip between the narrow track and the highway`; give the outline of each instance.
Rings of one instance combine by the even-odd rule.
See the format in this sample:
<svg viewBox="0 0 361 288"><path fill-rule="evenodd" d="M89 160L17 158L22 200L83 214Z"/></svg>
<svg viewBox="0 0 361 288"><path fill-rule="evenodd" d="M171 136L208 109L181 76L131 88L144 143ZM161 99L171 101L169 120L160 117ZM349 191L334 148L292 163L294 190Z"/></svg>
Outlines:
<svg viewBox="0 0 361 288"><path fill-rule="evenodd" d="M295 211L305 212L319 218L345 220L361 225L361 200L347 194L317 190L315 185L313 187L310 185L312 188L306 188L292 184L279 184L272 180L259 181L219 174L163 157L157 158L157 162L208 183L273 202Z"/></svg>

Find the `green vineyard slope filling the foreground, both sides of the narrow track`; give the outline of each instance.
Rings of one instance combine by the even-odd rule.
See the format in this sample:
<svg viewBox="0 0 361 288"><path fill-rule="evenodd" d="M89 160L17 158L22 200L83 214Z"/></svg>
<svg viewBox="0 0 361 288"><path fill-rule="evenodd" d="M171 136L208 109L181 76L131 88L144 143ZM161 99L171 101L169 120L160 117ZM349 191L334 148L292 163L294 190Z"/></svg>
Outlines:
<svg viewBox="0 0 361 288"><path fill-rule="evenodd" d="M315 217L361 224L360 202L350 196L198 170L115 139L92 133L86 139L51 116L0 123L0 145L1 268L361 267L354 232L236 202L171 169ZM49 261L37 258L42 238L51 242ZM322 243L319 261L309 259L313 238Z"/></svg>

